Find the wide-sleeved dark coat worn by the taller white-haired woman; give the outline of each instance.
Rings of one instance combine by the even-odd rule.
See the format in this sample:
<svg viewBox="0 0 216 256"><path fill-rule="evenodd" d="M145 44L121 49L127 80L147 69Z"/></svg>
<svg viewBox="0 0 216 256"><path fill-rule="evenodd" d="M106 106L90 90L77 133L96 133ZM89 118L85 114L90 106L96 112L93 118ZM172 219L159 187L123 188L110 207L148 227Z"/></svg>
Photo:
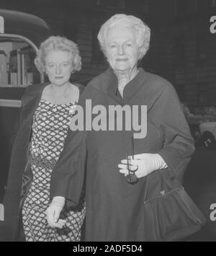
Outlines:
<svg viewBox="0 0 216 256"><path fill-rule="evenodd" d="M92 108L104 105L107 112L109 105L146 105L147 136L134 139L134 154L160 154L168 164L164 173L169 177L174 172L182 179L194 141L179 98L168 81L140 69L126 85L122 100L117 92L117 78L108 69L93 79L81 95L79 104L84 110L90 99ZM116 122L120 117L115 118ZM149 177L155 180L156 172L140 178L135 185L127 183L119 172L117 165L132 154L132 133L124 128L68 132L53 169L50 196L64 196L68 205L76 205L86 182L86 241L145 240L143 195L148 195ZM151 192L160 193L157 180Z"/></svg>

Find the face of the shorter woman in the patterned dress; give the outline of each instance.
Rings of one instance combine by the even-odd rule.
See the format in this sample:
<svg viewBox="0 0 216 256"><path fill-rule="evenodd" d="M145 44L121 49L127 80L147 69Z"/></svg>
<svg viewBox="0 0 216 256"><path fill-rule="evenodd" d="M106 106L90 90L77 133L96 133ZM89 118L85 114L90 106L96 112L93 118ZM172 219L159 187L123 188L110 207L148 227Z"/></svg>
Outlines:
<svg viewBox="0 0 216 256"><path fill-rule="evenodd" d="M52 84L62 86L70 77L72 67L72 56L63 50L52 50L45 58L45 71Z"/></svg>

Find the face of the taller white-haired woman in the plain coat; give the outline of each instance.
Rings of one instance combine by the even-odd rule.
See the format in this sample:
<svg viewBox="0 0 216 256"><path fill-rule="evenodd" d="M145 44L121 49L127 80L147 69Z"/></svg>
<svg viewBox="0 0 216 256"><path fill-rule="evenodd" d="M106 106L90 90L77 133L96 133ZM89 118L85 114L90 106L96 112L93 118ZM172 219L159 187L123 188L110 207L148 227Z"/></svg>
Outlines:
<svg viewBox="0 0 216 256"><path fill-rule="evenodd" d="M139 47L131 27L114 26L107 31L107 60L114 71L130 71L137 66Z"/></svg>

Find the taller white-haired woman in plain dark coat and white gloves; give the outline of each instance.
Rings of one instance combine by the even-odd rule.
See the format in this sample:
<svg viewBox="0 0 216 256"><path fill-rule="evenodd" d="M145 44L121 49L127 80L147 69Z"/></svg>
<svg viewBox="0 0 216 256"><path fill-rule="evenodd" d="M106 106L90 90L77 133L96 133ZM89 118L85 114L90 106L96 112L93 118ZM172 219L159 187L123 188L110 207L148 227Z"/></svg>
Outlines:
<svg viewBox="0 0 216 256"><path fill-rule="evenodd" d="M110 67L84 90L78 105L86 118L84 128L76 132L71 130L76 128L80 108L74 112L52 174L48 222L58 226L64 204L76 205L85 184L86 241L144 241L155 229L153 222L145 219L144 196L166 193L159 190L157 174L172 177L174 173L181 180L194 151L193 139L174 87L160 76L138 69L138 61L149 48L148 26L136 17L116 14L102 25L98 39ZM86 107L89 100L91 128ZM105 110L110 106L147 106L147 133L138 136L134 123L128 129L128 123L122 122L122 131L104 128L105 121L117 124L124 117L120 112L109 112L99 118L96 107L99 110L100 106ZM146 112L137 111L130 119L142 120L144 116Z"/></svg>

